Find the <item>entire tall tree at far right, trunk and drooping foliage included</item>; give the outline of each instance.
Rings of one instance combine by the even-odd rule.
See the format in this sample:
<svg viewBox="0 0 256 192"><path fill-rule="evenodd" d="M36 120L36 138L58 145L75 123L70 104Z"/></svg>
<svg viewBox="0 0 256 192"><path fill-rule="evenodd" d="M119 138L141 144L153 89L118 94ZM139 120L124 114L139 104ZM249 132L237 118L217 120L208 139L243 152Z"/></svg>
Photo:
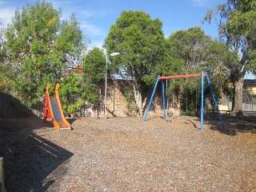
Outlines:
<svg viewBox="0 0 256 192"><path fill-rule="evenodd" d="M234 83L233 113L242 110L242 86L246 71L256 74L256 1L228 0L219 4L216 10L208 10L205 20L212 22L219 16L218 32L231 50L240 55L240 61L235 74L238 80Z"/></svg>

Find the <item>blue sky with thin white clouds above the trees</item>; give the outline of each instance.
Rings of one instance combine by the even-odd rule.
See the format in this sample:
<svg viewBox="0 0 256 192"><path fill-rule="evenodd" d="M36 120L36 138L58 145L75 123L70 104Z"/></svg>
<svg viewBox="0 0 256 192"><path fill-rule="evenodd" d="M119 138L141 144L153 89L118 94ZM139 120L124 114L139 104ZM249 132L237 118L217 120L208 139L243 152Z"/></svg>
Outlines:
<svg viewBox="0 0 256 192"><path fill-rule="evenodd" d="M0 19L3 26L11 22L16 8L34 5L36 0L0 0ZM187 30L200 26L206 35L218 37L215 23L202 24L207 10L214 9L218 3L227 0L46 0L55 9L62 9L62 19L69 21L70 15L80 22L84 35L90 39L89 49L102 48L104 39L123 10L142 10L151 19L162 21L162 30L168 38L177 30Z"/></svg>

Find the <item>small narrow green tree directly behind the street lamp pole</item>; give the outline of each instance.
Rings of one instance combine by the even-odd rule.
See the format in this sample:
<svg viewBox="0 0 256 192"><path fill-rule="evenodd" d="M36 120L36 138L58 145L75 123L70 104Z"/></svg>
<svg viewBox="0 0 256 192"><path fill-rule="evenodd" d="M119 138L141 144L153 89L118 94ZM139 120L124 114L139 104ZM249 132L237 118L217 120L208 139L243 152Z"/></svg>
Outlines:
<svg viewBox="0 0 256 192"><path fill-rule="evenodd" d="M102 89L106 73L106 57L102 50L95 47L89 51L84 61L84 69L83 91L86 100L91 103L99 102L99 90Z"/></svg>

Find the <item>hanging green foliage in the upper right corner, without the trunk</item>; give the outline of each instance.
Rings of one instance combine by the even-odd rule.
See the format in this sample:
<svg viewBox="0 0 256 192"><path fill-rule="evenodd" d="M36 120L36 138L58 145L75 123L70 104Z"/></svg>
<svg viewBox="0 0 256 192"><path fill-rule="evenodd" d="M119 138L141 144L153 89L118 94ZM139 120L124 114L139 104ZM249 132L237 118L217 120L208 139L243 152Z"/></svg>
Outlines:
<svg viewBox="0 0 256 192"><path fill-rule="evenodd" d="M234 10L229 11L230 19L226 25L230 42L235 43L235 48L241 49L244 59L241 64L245 68L244 70L250 70L256 75L256 1L240 0L233 2L232 5Z"/></svg>

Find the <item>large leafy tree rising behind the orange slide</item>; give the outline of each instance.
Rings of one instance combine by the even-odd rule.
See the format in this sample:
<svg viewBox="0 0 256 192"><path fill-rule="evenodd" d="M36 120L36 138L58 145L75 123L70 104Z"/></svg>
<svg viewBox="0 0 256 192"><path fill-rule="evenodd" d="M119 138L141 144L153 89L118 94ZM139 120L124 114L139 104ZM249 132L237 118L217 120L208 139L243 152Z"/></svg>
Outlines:
<svg viewBox="0 0 256 192"><path fill-rule="evenodd" d="M61 82L64 71L78 64L85 49L74 14L70 22L60 18L61 10L37 1L17 9L7 26L4 64L17 74L14 90L28 106L42 98L47 82Z"/></svg>

